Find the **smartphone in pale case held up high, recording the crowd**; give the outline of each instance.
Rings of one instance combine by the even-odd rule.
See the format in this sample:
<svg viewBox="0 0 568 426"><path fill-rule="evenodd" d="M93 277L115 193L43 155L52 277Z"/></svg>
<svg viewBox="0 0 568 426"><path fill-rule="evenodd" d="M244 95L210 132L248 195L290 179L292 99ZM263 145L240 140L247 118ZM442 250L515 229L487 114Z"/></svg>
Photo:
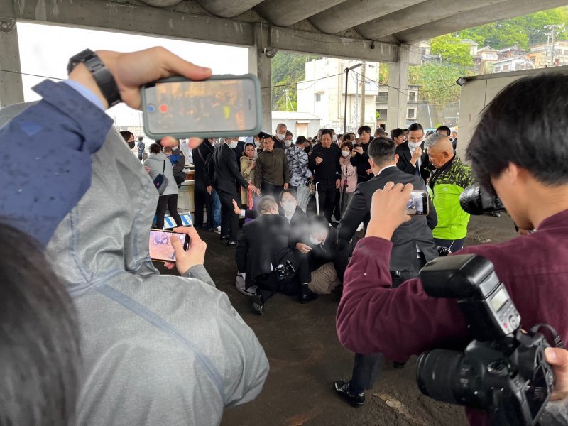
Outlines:
<svg viewBox="0 0 568 426"><path fill-rule="evenodd" d="M144 131L150 138L219 138L260 133L261 84L256 75L170 77L141 88Z"/></svg>

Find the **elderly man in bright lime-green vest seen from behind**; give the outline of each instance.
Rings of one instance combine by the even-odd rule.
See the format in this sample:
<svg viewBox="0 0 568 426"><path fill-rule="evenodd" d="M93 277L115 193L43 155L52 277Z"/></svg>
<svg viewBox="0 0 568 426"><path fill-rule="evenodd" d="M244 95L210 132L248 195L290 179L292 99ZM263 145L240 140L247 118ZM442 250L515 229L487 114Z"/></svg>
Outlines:
<svg viewBox="0 0 568 426"><path fill-rule="evenodd" d="M438 214L438 225L432 235L438 246L455 252L464 246L469 222L469 214L459 205L459 195L474 178L471 168L457 157L446 136L430 136L427 149L430 163L436 168L429 183Z"/></svg>

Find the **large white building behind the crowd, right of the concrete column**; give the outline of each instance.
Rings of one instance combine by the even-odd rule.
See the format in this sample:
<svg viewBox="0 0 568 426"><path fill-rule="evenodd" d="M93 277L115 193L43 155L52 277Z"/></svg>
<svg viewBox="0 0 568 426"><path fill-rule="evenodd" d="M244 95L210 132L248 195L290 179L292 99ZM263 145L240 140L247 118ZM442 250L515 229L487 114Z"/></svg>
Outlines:
<svg viewBox="0 0 568 426"><path fill-rule="evenodd" d="M345 107L345 68L358 63L354 60L322 58L306 62L305 81L297 83L297 109L321 117L322 127L343 132ZM362 82L365 74L366 82ZM361 92L365 92L364 98ZM376 126L376 97L378 95L378 63L368 62L349 72L347 87L347 129L356 131L364 123ZM364 119L361 109L364 102Z"/></svg>

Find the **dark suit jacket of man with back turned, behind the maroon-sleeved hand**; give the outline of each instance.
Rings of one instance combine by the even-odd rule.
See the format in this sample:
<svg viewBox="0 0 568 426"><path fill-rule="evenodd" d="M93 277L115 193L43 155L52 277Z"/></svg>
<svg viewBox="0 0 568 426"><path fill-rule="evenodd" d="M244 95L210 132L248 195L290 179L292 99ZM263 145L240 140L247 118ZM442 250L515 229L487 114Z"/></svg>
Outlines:
<svg viewBox="0 0 568 426"><path fill-rule="evenodd" d="M371 198L378 189L383 189L387 182L412 183L415 190L426 190L424 181L417 175L404 173L396 167L386 168L380 175L375 176L368 182L357 185L357 189L349 207L337 227L338 246L344 248L349 243L351 236L355 234L357 226L364 222L365 227L371 218ZM438 252L432 229L438 222L436 210L432 200L428 200L430 211L427 217L416 216L410 222L406 222L395 229L393 238L393 251L391 252L391 271L415 271L416 246L429 262L438 257Z"/></svg>

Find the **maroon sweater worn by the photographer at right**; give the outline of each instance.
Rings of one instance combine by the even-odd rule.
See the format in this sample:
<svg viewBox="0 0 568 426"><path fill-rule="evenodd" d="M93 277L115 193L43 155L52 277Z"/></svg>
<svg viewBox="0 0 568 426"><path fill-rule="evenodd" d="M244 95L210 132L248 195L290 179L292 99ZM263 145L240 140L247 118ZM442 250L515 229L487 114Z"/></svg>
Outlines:
<svg viewBox="0 0 568 426"><path fill-rule="evenodd" d="M357 244L337 310L342 344L397 360L448 342L466 342L466 322L455 300L427 296L419 279L389 288L391 247L391 241L375 237ZM568 210L545 219L535 234L459 251L466 253L493 262L525 329L545 322L568 341ZM483 413L467 414L471 425L489 423Z"/></svg>

